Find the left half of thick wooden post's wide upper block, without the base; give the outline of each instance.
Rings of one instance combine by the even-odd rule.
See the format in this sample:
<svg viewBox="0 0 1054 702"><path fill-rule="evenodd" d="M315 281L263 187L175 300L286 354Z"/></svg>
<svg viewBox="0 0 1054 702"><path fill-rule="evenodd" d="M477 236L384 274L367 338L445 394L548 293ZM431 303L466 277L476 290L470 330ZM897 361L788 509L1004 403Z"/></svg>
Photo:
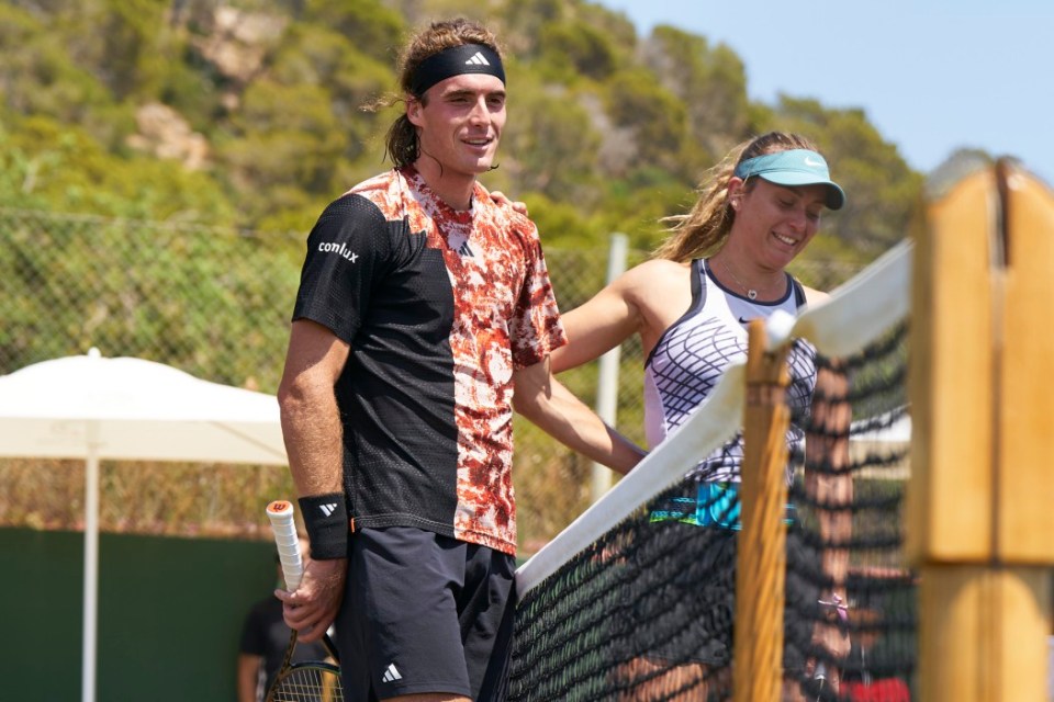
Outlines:
<svg viewBox="0 0 1054 702"><path fill-rule="evenodd" d="M994 174L975 173L930 205L916 236L907 551L917 562L991 554L997 197Z"/></svg>

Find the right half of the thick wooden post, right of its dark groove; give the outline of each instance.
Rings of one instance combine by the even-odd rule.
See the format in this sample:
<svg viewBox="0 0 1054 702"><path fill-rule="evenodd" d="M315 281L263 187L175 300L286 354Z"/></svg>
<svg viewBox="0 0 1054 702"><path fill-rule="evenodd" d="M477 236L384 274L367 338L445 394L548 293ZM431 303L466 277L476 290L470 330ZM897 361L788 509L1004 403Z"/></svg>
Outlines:
<svg viewBox="0 0 1054 702"><path fill-rule="evenodd" d="M1054 299L1054 192L1007 159L996 163L1002 204L1002 307L996 343L998 437L994 578L1000 643L999 699L1047 694L1054 566L1054 336L1042 324Z"/></svg>

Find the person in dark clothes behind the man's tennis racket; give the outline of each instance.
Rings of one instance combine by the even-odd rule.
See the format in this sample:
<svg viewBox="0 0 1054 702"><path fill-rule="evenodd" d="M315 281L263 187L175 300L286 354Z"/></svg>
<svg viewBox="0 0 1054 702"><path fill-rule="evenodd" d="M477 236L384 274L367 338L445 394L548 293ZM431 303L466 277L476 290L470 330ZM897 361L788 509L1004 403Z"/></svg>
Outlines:
<svg viewBox="0 0 1054 702"><path fill-rule="evenodd" d="M307 553L307 540L301 539L301 553ZM281 563L274 554L278 587L284 588ZM238 644L238 702L264 702L267 691L282 665L292 633L282 619L282 602L273 593L256 602L246 614ZM319 642L299 643L293 661L325 660L326 649Z"/></svg>

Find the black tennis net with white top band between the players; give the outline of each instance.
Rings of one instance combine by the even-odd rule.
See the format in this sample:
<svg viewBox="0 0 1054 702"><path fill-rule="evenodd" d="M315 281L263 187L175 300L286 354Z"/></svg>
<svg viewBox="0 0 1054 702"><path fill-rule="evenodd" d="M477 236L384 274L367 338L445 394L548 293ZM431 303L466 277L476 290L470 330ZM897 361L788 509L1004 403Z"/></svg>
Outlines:
<svg viewBox="0 0 1054 702"><path fill-rule="evenodd" d="M901 534L910 261L900 245L793 328L769 325L772 344L806 340L819 372L844 378L837 395L817 389L814 406L852 410L833 432L808 408L792 417L805 440L787 466L785 698L837 700L856 687L883 695L864 699L910 694L916 579ZM735 629L739 490L693 469L742 450L744 380L743 365L730 366L680 429L517 571L509 700L731 697L733 637L750 634ZM831 441L848 441L848 458L809 450ZM843 582L827 575L839 558Z"/></svg>

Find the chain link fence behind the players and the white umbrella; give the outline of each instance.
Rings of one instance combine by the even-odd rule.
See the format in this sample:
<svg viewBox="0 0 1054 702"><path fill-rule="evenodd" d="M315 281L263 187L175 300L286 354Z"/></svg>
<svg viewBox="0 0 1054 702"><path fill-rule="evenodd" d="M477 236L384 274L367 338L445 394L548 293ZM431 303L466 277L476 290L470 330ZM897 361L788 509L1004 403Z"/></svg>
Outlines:
<svg viewBox="0 0 1054 702"><path fill-rule="evenodd" d="M303 261L303 234L0 208L0 374L94 347L167 363L216 383L274 393ZM626 267L647 258L628 252ZM608 248L547 248L562 309L605 283ZM796 262L831 288L855 270ZM643 443L640 343L621 349L616 424ZM561 375L593 405L597 364ZM520 544L536 551L590 502L592 464L527 421L516 423ZM104 462L105 531L268 539L262 508L292 494L285 468ZM79 529L83 466L0 461L0 524Z"/></svg>

